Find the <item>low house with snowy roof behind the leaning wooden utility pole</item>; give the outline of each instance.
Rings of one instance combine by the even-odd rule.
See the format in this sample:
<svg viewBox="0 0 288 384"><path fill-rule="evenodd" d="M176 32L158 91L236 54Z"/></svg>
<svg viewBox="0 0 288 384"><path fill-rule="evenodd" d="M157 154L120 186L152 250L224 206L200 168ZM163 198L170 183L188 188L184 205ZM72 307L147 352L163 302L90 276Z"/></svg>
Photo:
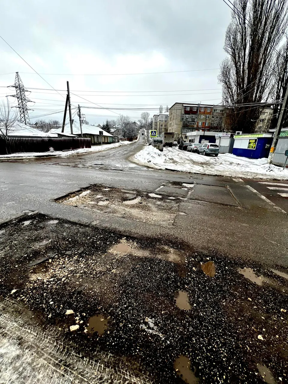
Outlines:
<svg viewBox="0 0 288 384"><path fill-rule="evenodd" d="M51 133L56 133L56 134L61 134L62 132L62 128L59 128L59 129L51 129ZM91 139L91 144L93 145L97 145L97 144L101 144L101 135L100 135L100 131L103 132L103 135L102 135L102 142L103 144L108 144L108 143L112 143L113 142L113 136L104 131L104 129L100 126L100 127L94 127L92 125L87 125L87 124L82 124L82 134L83 134L83 137L86 138L86 139ZM70 124L66 124L66 126L64 127L64 132L65 134L71 134L70 132ZM81 137L81 130L80 130L80 124L79 122L73 122L73 134L78 136L78 137Z"/></svg>

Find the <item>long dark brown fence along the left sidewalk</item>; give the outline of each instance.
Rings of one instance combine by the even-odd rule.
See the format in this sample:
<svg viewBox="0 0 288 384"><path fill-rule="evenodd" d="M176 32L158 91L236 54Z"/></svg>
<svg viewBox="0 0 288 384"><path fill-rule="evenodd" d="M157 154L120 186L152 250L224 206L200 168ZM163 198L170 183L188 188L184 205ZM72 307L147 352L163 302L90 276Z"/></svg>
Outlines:
<svg viewBox="0 0 288 384"><path fill-rule="evenodd" d="M0 137L0 155L23 152L69 151L91 148L91 139L81 137Z"/></svg>

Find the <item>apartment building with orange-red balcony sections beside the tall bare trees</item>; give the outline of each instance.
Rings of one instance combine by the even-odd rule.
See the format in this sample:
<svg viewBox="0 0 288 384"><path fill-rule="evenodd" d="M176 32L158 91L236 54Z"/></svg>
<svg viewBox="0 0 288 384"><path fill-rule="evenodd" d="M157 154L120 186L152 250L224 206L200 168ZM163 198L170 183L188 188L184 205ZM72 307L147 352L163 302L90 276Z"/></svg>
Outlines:
<svg viewBox="0 0 288 384"><path fill-rule="evenodd" d="M169 109L168 132L175 132L175 139L192 131L221 131L224 107L211 104L175 103Z"/></svg>

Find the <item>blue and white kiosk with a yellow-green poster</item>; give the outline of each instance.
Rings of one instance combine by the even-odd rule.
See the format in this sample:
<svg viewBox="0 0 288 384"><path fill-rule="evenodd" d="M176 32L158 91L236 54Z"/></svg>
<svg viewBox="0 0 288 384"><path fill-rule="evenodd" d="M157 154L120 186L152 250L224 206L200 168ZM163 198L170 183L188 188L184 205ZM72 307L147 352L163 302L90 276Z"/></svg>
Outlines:
<svg viewBox="0 0 288 384"><path fill-rule="evenodd" d="M272 136L270 133L235 135L232 154L249 159L268 157Z"/></svg>

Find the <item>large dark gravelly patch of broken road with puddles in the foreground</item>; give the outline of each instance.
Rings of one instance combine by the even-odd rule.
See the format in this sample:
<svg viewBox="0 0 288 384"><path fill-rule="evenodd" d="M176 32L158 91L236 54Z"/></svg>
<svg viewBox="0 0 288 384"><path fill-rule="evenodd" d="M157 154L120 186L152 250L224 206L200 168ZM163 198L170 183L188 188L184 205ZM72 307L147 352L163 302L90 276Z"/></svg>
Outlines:
<svg viewBox="0 0 288 384"><path fill-rule="evenodd" d="M31 222L24 226L28 217ZM260 384L259 364L276 382L279 377L287 381L285 277L213 250L195 251L171 238L123 238L96 226L54 220L35 214L0 225L0 295L25 306L38 328L61 332L77 356L90 359L100 350L109 354L106 362L113 369L121 359L131 374L148 371L152 382L161 384L192 379ZM213 278L202 270L207 262L214 263ZM257 285L239 268L250 268L265 281ZM273 269L287 272L278 265ZM177 306L179 291L189 310ZM66 315L67 310L73 314ZM17 312L17 319L23 316ZM69 365L63 366L66 372Z"/></svg>

